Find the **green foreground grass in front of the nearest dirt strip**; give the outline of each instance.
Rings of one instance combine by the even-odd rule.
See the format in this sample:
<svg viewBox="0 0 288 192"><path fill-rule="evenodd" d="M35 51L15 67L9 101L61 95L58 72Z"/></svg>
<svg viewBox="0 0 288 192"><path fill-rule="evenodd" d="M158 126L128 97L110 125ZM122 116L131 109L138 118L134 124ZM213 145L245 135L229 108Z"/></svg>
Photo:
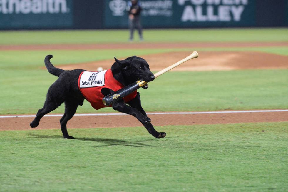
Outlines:
<svg viewBox="0 0 288 192"><path fill-rule="evenodd" d="M287 126L1 131L1 191L287 191Z"/></svg>

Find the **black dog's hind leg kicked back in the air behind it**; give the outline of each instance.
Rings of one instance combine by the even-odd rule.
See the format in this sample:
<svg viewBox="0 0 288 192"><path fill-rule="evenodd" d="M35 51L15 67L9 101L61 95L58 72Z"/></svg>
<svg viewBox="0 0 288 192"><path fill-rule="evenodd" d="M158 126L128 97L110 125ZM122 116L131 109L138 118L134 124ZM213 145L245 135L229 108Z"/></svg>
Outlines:
<svg viewBox="0 0 288 192"><path fill-rule="evenodd" d="M46 115L47 113L50 113L51 111L55 110L62 103L63 103L63 101L52 101L51 98L49 96L47 96L43 108L38 110L38 112L36 114L36 117L30 123L31 128L37 127L39 125L40 119L44 115Z"/></svg>

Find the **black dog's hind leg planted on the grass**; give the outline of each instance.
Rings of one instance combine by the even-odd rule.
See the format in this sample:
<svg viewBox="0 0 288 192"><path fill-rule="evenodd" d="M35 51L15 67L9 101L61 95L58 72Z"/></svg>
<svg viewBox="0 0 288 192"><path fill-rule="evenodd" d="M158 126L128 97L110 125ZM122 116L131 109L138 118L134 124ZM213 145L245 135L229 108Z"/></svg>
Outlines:
<svg viewBox="0 0 288 192"><path fill-rule="evenodd" d="M75 139L72 136L69 136L67 131L67 122L73 117L78 107L78 103L76 101L65 101L65 113L63 117L60 119L61 131L63 133L64 139Z"/></svg>

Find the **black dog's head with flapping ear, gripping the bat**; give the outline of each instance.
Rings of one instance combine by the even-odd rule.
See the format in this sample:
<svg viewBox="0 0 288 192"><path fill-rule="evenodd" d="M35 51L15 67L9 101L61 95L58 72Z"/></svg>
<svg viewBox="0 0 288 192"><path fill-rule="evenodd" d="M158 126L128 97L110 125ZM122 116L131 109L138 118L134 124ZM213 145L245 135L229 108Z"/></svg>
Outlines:
<svg viewBox="0 0 288 192"><path fill-rule="evenodd" d="M140 79L146 82L155 79L154 74L150 71L147 61L141 57L133 56L124 60L118 60L114 57L114 59L115 63L111 67L113 76L125 86ZM147 87L148 86L143 86L143 88Z"/></svg>

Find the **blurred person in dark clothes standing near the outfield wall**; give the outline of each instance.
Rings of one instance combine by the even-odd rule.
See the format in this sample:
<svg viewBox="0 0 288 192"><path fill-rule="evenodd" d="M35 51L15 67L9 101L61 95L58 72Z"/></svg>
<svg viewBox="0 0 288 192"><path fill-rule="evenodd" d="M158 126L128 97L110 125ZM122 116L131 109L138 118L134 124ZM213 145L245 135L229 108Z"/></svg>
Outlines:
<svg viewBox="0 0 288 192"><path fill-rule="evenodd" d="M135 27L138 29L140 41L143 41L143 34L142 34L142 26L140 21L140 14L141 14L141 6L138 0L131 0L128 2L128 6L130 7L128 11L128 23L130 29L130 41L133 41L133 34Z"/></svg>

